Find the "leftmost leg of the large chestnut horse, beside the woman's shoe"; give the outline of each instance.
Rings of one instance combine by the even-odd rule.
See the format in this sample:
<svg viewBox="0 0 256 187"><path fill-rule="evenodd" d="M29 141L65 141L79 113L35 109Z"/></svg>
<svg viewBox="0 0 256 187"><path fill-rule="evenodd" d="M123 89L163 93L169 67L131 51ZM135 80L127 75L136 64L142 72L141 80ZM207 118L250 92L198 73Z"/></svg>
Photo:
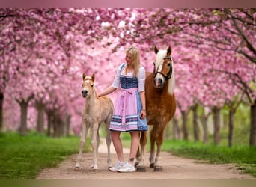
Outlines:
<svg viewBox="0 0 256 187"><path fill-rule="evenodd" d="M140 139L140 152L138 150L137 155L138 155L138 164L137 164L137 170L136 171L146 171L144 167L144 148L147 144L147 132L143 131L141 132L141 139ZM137 157L136 155L136 157Z"/></svg>

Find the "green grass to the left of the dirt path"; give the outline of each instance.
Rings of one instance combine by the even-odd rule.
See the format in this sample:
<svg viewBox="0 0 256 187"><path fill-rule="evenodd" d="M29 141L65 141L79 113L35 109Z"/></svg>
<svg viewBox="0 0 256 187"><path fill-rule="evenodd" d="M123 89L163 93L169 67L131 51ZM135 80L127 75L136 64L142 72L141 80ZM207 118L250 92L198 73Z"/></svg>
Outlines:
<svg viewBox="0 0 256 187"><path fill-rule="evenodd" d="M49 138L30 132L0 134L0 179L34 179L43 168L52 168L79 151L79 137ZM85 144L85 152L88 144Z"/></svg>

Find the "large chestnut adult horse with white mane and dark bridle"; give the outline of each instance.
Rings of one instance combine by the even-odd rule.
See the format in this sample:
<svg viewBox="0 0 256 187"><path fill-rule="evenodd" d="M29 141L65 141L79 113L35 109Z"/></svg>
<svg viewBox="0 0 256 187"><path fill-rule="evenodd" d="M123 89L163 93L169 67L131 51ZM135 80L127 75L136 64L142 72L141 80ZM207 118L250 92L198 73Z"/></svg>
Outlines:
<svg viewBox="0 0 256 187"><path fill-rule="evenodd" d="M176 101L174 96L174 66L171 57L171 46L166 50L154 47L156 59L153 63L153 73L150 73L145 82L147 125L153 126L150 130L150 168L162 171L160 152L163 133L167 123L174 117ZM140 148L136 156L137 171L145 171L144 147L147 144L147 132L141 132ZM155 156L155 144L157 147Z"/></svg>

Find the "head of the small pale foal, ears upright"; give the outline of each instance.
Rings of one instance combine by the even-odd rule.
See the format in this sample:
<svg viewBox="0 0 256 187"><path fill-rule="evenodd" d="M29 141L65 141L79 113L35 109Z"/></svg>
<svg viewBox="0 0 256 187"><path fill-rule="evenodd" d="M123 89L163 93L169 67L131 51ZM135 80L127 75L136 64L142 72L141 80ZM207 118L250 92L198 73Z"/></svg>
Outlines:
<svg viewBox="0 0 256 187"><path fill-rule="evenodd" d="M94 91L94 79L95 75L86 76L85 73L82 74L82 96L86 98L91 96Z"/></svg>

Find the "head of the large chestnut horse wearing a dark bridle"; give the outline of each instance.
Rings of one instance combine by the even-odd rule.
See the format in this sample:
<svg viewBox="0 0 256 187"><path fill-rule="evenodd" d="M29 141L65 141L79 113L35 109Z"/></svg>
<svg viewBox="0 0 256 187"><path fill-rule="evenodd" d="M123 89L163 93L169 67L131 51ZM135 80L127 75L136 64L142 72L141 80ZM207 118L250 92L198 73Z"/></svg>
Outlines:
<svg viewBox="0 0 256 187"><path fill-rule="evenodd" d="M153 85L156 89L162 89L173 73L171 46L166 50L159 50L155 46L154 51L156 53L156 60L153 63Z"/></svg>

